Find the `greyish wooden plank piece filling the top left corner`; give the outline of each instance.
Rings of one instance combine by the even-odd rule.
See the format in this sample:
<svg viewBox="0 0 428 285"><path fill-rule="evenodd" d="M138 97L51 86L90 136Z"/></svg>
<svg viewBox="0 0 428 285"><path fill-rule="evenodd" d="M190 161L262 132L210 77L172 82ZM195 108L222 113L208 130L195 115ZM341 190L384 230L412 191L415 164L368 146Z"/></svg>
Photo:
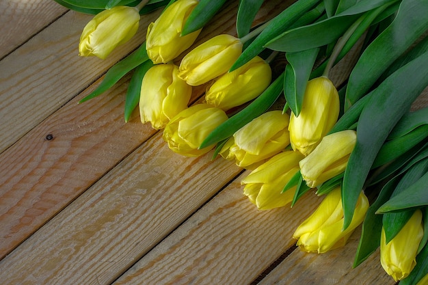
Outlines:
<svg viewBox="0 0 428 285"><path fill-rule="evenodd" d="M53 0L0 1L0 58L66 11Z"/></svg>

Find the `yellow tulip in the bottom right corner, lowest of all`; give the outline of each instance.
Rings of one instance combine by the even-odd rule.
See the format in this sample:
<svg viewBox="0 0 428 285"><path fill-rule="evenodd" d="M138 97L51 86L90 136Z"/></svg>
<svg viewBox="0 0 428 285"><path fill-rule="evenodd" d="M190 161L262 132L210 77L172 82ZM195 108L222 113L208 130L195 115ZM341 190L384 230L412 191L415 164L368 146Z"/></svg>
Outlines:
<svg viewBox="0 0 428 285"><path fill-rule="evenodd" d="M397 236L386 244L385 230L382 228L380 242L380 263L395 281L410 274L416 265L418 246L423 238L422 212L416 210Z"/></svg>

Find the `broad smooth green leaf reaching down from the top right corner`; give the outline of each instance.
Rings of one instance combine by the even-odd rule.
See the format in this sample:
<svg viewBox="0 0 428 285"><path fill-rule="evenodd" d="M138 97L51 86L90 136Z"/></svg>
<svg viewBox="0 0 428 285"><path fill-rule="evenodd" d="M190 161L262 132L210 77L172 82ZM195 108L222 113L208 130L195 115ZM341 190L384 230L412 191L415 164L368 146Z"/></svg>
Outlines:
<svg viewBox="0 0 428 285"><path fill-rule="evenodd" d="M361 3L361 2L360 2ZM392 24L362 53L349 75L345 110L428 28L428 2L403 0Z"/></svg>

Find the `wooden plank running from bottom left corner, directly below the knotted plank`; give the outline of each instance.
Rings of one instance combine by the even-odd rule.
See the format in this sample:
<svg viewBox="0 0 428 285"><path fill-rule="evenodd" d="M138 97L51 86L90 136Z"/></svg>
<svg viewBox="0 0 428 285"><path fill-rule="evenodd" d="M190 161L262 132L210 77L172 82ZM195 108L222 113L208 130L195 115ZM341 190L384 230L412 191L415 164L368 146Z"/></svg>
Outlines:
<svg viewBox="0 0 428 285"><path fill-rule="evenodd" d="M109 284L241 171L211 155L157 133L3 258L2 284Z"/></svg>

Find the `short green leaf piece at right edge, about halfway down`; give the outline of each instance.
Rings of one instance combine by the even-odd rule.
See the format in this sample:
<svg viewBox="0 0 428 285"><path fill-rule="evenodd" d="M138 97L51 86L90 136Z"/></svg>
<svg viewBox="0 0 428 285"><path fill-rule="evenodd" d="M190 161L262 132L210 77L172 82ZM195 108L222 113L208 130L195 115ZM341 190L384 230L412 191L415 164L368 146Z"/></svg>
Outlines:
<svg viewBox="0 0 428 285"><path fill-rule="evenodd" d="M428 124L428 107L405 114L403 118L399 120L397 125L394 126L388 136L388 139L395 139L406 135L415 128L418 128L418 126L422 126L424 124Z"/></svg>

